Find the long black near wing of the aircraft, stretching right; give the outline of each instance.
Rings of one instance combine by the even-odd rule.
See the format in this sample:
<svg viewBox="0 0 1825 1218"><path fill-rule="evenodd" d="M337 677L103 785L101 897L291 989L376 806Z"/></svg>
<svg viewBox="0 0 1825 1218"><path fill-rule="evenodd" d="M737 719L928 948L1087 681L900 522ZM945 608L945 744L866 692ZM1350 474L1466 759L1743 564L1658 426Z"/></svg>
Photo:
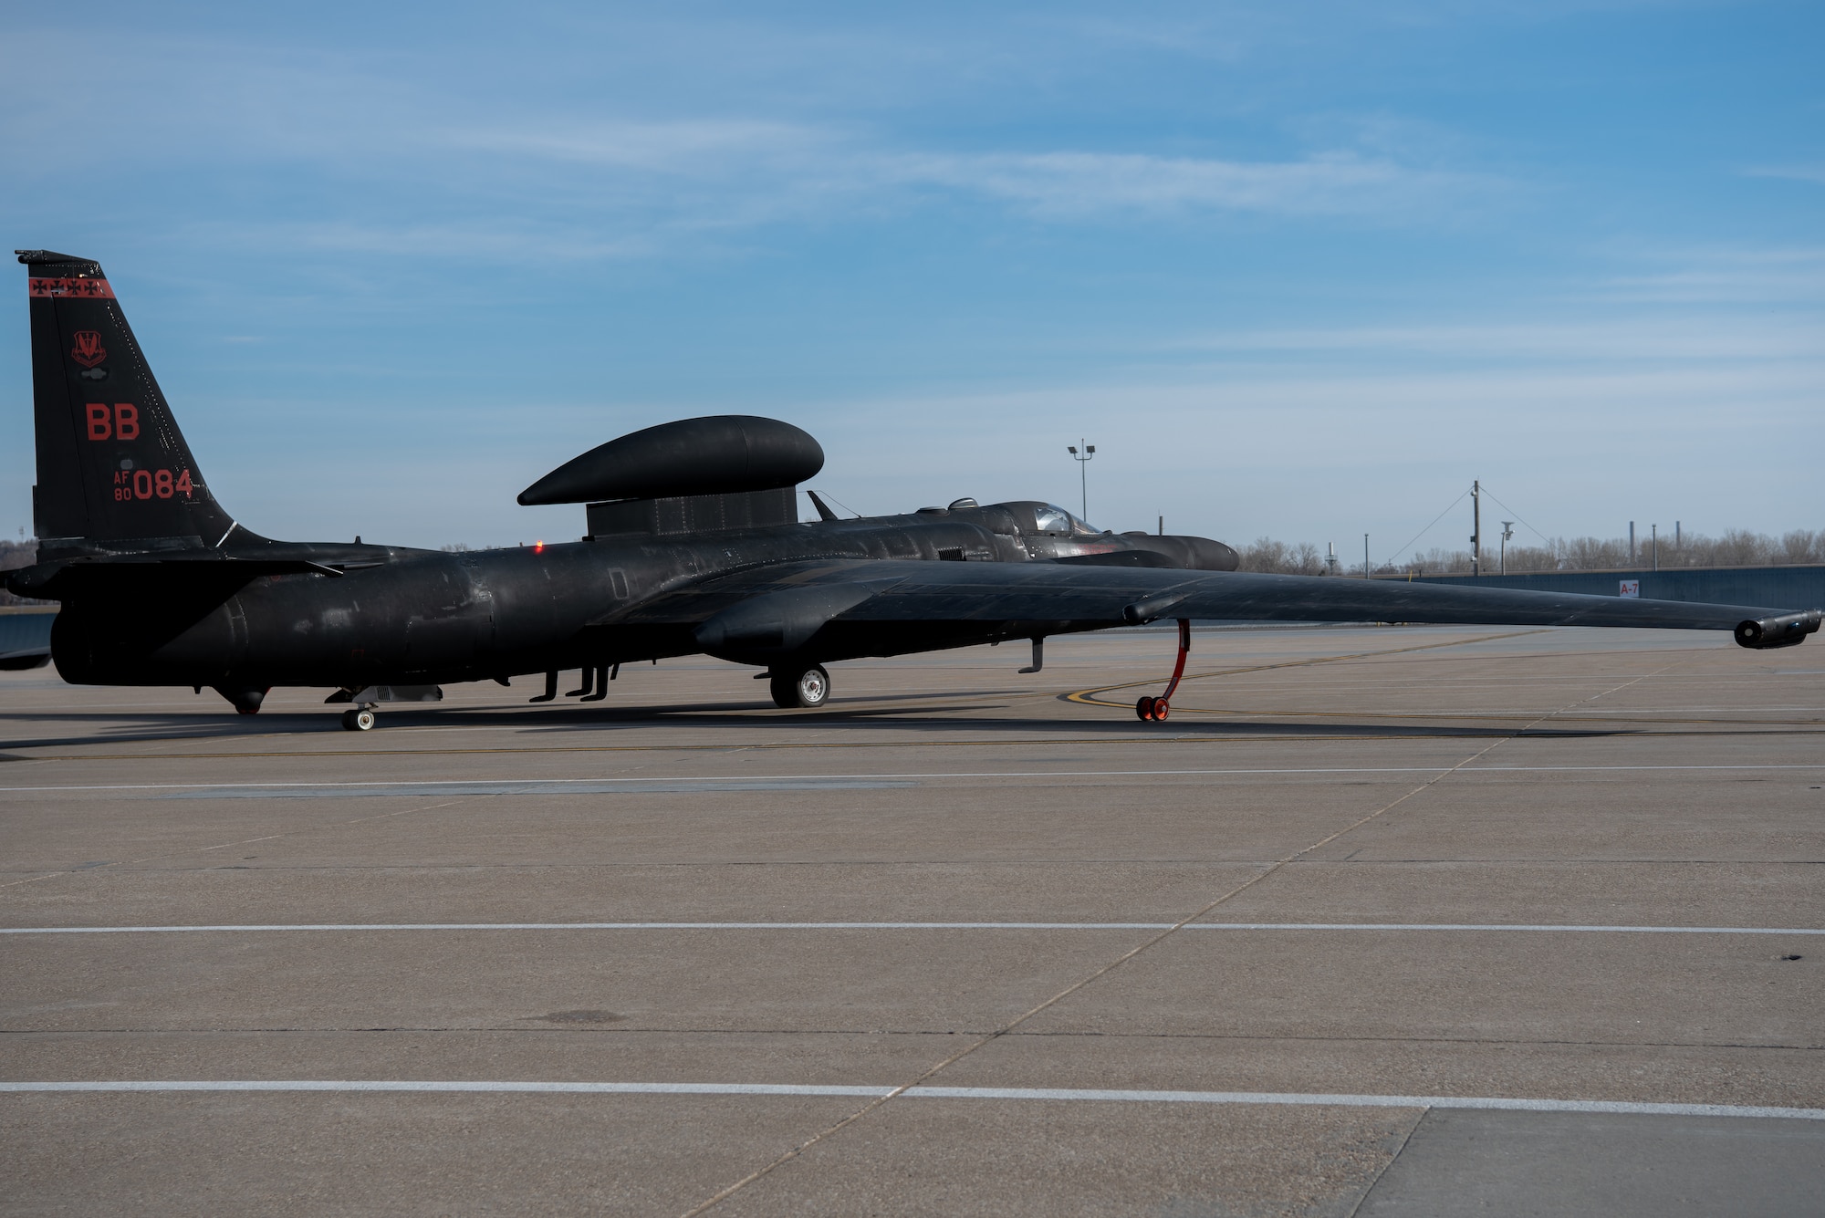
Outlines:
<svg viewBox="0 0 1825 1218"><path fill-rule="evenodd" d="M1736 631L1747 647L1776 647L1818 631L1821 614L1818 609L1343 576L845 560L781 563L710 578L644 602L617 620L690 624L704 651L735 658L819 649L840 638L850 644L832 655L914 649L854 649L871 635L891 642L898 633L922 633L907 627L962 640L986 629L1004 636L1055 635L1157 618L1716 629Z"/></svg>

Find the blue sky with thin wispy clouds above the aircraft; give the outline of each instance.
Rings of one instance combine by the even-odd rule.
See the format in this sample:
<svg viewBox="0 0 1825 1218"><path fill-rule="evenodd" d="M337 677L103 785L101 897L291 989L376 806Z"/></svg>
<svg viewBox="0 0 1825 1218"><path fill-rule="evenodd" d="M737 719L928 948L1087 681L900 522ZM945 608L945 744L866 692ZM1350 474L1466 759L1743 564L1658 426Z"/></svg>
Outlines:
<svg viewBox="0 0 1825 1218"><path fill-rule="evenodd" d="M1378 562L1471 478L1546 534L1825 527L1818 4L0 29L11 244L102 261L217 496L272 536L575 536L580 507L513 496L712 412L808 428L812 485L871 514L1075 507L1088 436L1100 527L1369 532Z"/></svg>

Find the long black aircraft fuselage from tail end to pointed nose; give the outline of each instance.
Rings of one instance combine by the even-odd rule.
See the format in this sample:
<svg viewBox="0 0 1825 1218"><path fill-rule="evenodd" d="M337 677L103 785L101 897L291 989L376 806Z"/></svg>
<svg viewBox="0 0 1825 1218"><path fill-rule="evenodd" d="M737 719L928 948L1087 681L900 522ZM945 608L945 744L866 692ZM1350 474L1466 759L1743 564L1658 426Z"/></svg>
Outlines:
<svg viewBox="0 0 1825 1218"><path fill-rule="evenodd" d="M232 547L230 547L232 551ZM254 560L343 569L239 578L232 562L173 563L130 602L75 583L51 656L77 684L453 684L704 651L694 622L641 624L641 605L704 578L821 560L1090 562L1234 569L1226 545L1150 534L1035 534L1006 509L914 512L714 534L615 536L496 551L266 543ZM973 622L900 631L819 660L1090 629L1110 622Z"/></svg>

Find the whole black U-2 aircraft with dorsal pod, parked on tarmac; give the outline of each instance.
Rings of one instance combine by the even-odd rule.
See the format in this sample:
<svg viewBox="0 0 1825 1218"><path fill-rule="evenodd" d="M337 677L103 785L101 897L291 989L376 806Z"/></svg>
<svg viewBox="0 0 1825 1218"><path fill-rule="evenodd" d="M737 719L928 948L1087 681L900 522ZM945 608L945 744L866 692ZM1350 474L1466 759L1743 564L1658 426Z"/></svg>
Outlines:
<svg viewBox="0 0 1825 1218"><path fill-rule="evenodd" d="M708 653L763 667L774 702L821 706L825 664L1192 618L1657 625L1787 647L1820 611L1237 573L1221 542L1099 532L1038 501L958 500L905 516L798 520L823 467L803 430L683 419L560 465L520 503L586 503L562 545L442 552L274 542L210 494L100 264L18 252L29 270L38 563L7 576L62 602L64 680L214 687L243 715L274 686L332 689L343 724L438 686L582 671L599 700L620 664Z"/></svg>

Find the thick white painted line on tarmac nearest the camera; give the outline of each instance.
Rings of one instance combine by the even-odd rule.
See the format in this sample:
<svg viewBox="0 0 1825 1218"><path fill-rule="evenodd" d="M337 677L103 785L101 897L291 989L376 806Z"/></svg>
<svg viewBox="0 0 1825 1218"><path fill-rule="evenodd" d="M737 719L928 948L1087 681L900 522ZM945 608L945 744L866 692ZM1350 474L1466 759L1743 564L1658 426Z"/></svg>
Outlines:
<svg viewBox="0 0 1825 1218"><path fill-rule="evenodd" d="M0 1092L440 1092L555 1096L856 1096L878 1099L896 1087L814 1083L518 1083L433 1079L221 1079L221 1081L0 1081ZM1495 1112L1606 1112L1626 1116L1750 1116L1825 1121L1825 1109L1730 1103L1633 1103L1621 1099L1529 1099L1507 1096L1360 1096L1276 1090L1108 1090L1080 1087L911 1087L907 1099L1048 1099L1119 1103L1265 1103L1345 1109L1482 1109Z"/></svg>

